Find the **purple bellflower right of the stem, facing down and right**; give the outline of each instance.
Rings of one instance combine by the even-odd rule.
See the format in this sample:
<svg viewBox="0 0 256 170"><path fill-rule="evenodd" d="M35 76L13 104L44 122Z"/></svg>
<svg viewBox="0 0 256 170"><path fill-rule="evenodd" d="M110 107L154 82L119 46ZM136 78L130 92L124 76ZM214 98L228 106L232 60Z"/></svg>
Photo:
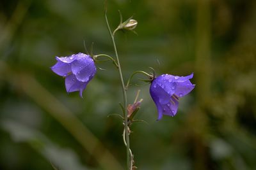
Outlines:
<svg viewBox="0 0 256 170"><path fill-rule="evenodd" d="M179 107L179 98L186 96L195 88L189 79L193 78L193 73L189 76L173 76L162 74L155 78L150 85L150 95L156 104L158 118L163 115L175 116Z"/></svg>

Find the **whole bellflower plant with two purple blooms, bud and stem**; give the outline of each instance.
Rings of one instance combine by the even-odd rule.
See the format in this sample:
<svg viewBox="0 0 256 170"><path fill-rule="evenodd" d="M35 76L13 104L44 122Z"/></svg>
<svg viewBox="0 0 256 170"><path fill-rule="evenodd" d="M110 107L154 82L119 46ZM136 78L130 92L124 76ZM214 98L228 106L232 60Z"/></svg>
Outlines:
<svg viewBox="0 0 256 170"><path fill-rule="evenodd" d="M134 155L132 154L131 148L129 146L129 135L131 133L130 128L133 122L144 122L143 120L134 120L136 113L138 110L140 110L141 102L143 101L143 99L137 101L140 90L138 90L134 103L127 104L127 90L129 85L131 85L130 81L132 80L133 76L136 74L143 74L147 76L147 80L140 80L151 84L149 88L150 96L156 104L158 112L157 120L161 120L163 115L168 115L171 117L175 116L178 111L180 97L186 96L189 94L189 92L191 92L191 90L195 88L195 85L193 85L190 81L190 79L193 78L193 73L188 76L173 76L171 74L162 74L161 76L156 76L154 69L150 67L150 69L153 70L152 73L146 73L145 71L134 71L125 85L122 75L122 67L120 65L115 44L115 33L116 31L134 32L133 29L137 26L138 22L132 19L132 17L125 20L125 22L122 22L122 15L120 13L120 24L118 27L116 27L115 31L112 32L111 28L109 27L106 11L105 19L108 26L109 35L113 43L115 59L106 54L93 55L91 53L88 55L84 53L77 53L68 57L56 57L57 62L54 64L54 66L51 67L51 70L59 76L63 76L65 78L65 87L68 93L79 91L80 97L83 97L83 91L86 89L86 86L97 72L95 62L108 60L113 62L113 64L116 66L116 69L118 69L124 97L124 103L120 104L123 115L118 116L122 117L124 120L123 139L127 154L126 167L127 170L132 170L136 169L136 166L134 165ZM99 57L106 57L106 59L100 60Z"/></svg>

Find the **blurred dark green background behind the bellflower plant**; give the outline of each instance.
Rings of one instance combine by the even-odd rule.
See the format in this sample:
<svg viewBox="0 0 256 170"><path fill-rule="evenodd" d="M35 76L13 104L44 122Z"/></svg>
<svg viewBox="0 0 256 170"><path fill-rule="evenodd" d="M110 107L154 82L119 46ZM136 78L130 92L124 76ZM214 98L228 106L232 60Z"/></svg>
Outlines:
<svg viewBox="0 0 256 170"><path fill-rule="evenodd" d="M118 32L124 78L136 70L185 76L195 89L175 117L156 121L149 85L141 89L131 149L139 169L256 169L256 3L253 0L112 0L111 28L134 15L136 32ZM124 169L122 90L110 62L97 64L83 93L67 94L49 67L54 57L114 55L104 1L0 2L0 169ZM141 76L143 78L143 76ZM135 86L138 84L140 87Z"/></svg>

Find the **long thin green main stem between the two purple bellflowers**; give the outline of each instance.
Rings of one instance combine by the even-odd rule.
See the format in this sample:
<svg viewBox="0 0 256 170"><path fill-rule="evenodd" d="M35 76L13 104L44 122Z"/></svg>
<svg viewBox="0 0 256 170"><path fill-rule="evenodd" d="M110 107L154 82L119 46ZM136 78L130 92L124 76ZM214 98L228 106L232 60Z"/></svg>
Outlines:
<svg viewBox="0 0 256 170"><path fill-rule="evenodd" d="M126 90L125 90L125 85L124 85L124 78L123 78L123 75L122 75L122 69L121 69L121 66L120 66L118 53L117 53L117 50L116 50L115 38L114 38L114 36L111 32L111 29L109 27L108 17L106 15L106 11L105 11L105 19L106 19L106 24L108 26L108 31L109 31L109 34L111 36L111 40L112 40L112 43L113 43L113 46L114 46L114 49L115 49L116 61L117 61L117 64L118 64L118 72L119 72L120 81L121 81L121 84L122 84L123 96L124 96L124 118L125 118L124 128L125 128L125 141L126 141L127 170L129 170L132 160L130 159L130 156L131 156L130 155L130 142L129 142L128 118L127 118L127 109L126 109L127 108L127 95L126 95Z"/></svg>

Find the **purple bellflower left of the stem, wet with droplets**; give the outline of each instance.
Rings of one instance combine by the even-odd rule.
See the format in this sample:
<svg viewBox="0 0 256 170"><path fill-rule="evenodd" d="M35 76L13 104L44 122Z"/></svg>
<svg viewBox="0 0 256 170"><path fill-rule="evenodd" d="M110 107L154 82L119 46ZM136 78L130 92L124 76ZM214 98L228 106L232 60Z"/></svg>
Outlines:
<svg viewBox="0 0 256 170"><path fill-rule="evenodd" d="M57 63L51 67L59 76L65 77L67 92L79 91L83 97L83 90L96 73L94 61L90 55L77 53L69 57L56 57Z"/></svg>

